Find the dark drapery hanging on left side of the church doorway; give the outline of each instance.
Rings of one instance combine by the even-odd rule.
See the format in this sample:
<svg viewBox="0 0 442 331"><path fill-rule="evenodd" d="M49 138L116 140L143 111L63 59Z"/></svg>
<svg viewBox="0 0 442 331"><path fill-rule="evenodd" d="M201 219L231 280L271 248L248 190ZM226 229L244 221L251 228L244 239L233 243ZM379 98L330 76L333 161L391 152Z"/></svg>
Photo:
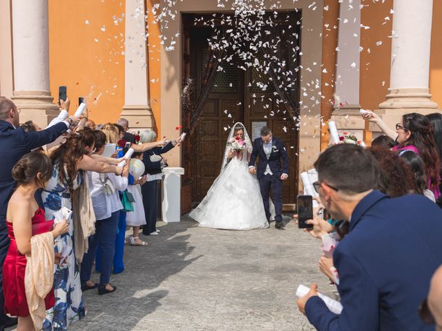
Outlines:
<svg viewBox="0 0 442 331"><path fill-rule="evenodd" d="M218 36L218 40L227 41L227 45L230 43L231 35L226 33L226 30L221 30L221 39L219 35L219 30L215 30L213 32L215 36ZM211 38L214 40L215 38ZM213 81L215 80L218 67L220 66L222 59L226 57L227 47L209 47L209 57L206 66L204 67L204 71L202 72L202 80L201 80L201 92L198 96L198 99L195 102L195 108L191 111L191 123L190 123L190 134L193 133L195 128L198 126L198 121L200 120L200 116L202 111L204 110L204 105L206 104L207 98L209 97L210 90L213 86Z"/></svg>

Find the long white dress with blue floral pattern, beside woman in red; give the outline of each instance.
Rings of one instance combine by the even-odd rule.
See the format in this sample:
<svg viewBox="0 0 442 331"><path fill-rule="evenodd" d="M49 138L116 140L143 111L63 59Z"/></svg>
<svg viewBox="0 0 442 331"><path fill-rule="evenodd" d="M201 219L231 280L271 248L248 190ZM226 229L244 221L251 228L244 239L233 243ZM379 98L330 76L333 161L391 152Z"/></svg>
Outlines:
<svg viewBox="0 0 442 331"><path fill-rule="evenodd" d="M83 172L79 171L74 181L74 189L77 189L83 181ZM62 206L72 210L68 183L61 183L57 166L54 166L52 177L46 184L45 190L41 193L46 219L54 219L54 212ZM55 252L61 252L64 245L75 248L74 226L72 218L69 221L69 231L61 235L55 241ZM74 250L68 255L67 263L61 268L55 265L54 291L55 306L46 312L46 319L43 324L44 331L66 330L70 323L78 321L86 315L83 297L81 294L80 274L75 259Z"/></svg>

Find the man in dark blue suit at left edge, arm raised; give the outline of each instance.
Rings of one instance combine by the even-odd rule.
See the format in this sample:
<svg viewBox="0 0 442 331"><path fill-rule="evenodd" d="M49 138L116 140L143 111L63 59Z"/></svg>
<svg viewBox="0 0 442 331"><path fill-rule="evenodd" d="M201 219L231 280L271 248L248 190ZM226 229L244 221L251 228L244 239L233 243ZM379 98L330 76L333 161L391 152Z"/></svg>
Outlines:
<svg viewBox="0 0 442 331"><path fill-rule="evenodd" d="M2 282L3 263L9 248L6 209L15 188L11 170L24 154L54 141L63 132L66 132L73 122L78 122L77 117L69 117L66 121L57 123L46 130L25 132L23 128L19 127L19 111L15 104L10 99L0 97L0 155L2 159L0 165L0 331L15 325L16 321L7 317L3 312Z"/></svg>

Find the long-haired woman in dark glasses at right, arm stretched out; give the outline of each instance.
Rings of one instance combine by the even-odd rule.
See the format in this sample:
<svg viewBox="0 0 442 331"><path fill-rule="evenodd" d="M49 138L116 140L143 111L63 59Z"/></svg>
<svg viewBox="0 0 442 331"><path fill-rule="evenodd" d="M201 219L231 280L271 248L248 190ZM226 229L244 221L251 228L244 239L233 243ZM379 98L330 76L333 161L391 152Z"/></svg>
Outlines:
<svg viewBox="0 0 442 331"><path fill-rule="evenodd" d="M394 134L394 130L388 128L385 122L374 112L368 111L363 114L363 118L376 123L387 136L396 139L396 146L392 150L412 150L419 154L425 165L427 188L432 190L436 199L441 197L441 191L439 190L441 161L436 149L434 131L430 120L416 112L405 114L402 117L402 122L396 124L396 134Z"/></svg>

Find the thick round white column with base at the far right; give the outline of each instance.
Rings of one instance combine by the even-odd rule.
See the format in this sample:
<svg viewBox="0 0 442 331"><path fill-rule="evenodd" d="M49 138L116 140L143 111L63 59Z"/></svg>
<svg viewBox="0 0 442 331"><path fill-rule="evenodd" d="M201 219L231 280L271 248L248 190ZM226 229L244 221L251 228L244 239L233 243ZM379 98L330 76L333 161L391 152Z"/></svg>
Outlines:
<svg viewBox="0 0 442 331"><path fill-rule="evenodd" d="M391 127L408 112L429 114L438 109L428 89L432 7L433 0L394 1L390 93L378 111Z"/></svg>

